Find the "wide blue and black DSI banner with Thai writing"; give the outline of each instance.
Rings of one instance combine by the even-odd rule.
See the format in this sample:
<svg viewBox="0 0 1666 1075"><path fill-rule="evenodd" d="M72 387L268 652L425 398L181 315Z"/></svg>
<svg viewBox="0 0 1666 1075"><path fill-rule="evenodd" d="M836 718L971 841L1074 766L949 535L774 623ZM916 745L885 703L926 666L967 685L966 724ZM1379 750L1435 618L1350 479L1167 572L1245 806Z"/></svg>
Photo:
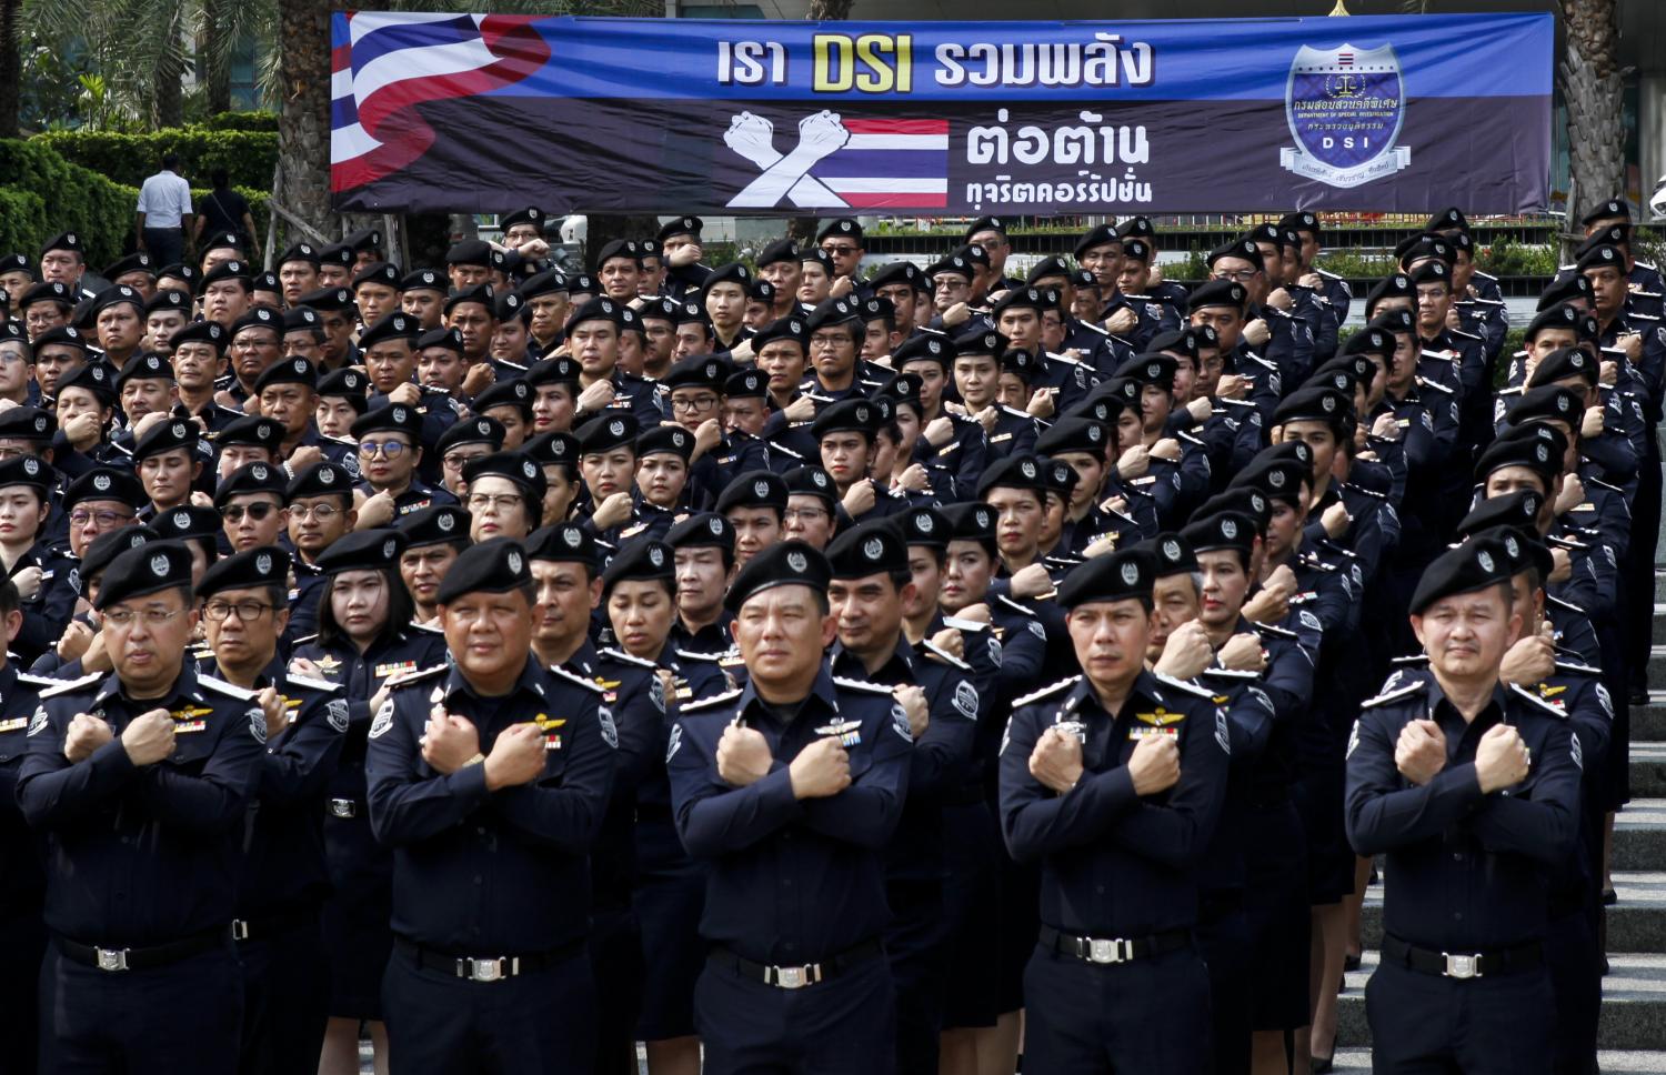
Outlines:
<svg viewBox="0 0 1666 1075"><path fill-rule="evenodd" d="M342 210L1544 208L1551 15L333 17Z"/></svg>

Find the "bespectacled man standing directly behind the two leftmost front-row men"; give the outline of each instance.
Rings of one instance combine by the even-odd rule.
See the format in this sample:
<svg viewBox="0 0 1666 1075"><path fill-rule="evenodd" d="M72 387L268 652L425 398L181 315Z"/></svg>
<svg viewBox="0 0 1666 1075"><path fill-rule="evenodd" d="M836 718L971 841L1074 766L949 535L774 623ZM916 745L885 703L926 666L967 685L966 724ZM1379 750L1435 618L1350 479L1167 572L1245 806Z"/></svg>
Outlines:
<svg viewBox="0 0 1666 1075"><path fill-rule="evenodd" d="M267 732L232 923L243 972L245 1072L312 1070L328 1020L323 818L348 707L340 687L283 667L288 568L290 553L262 545L213 565L197 587L210 648L197 673L252 692Z"/></svg>

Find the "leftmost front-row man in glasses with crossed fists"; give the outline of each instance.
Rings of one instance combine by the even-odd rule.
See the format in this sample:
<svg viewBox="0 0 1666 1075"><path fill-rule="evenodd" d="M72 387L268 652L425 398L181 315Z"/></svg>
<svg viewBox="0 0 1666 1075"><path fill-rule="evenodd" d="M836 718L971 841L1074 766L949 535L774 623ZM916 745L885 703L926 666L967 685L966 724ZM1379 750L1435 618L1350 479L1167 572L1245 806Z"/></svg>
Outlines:
<svg viewBox="0 0 1666 1075"><path fill-rule="evenodd" d="M95 605L115 672L45 692L18 773L48 847L43 1048L65 1068L230 1075L232 920L267 717L185 662L198 620L185 547L122 553Z"/></svg>

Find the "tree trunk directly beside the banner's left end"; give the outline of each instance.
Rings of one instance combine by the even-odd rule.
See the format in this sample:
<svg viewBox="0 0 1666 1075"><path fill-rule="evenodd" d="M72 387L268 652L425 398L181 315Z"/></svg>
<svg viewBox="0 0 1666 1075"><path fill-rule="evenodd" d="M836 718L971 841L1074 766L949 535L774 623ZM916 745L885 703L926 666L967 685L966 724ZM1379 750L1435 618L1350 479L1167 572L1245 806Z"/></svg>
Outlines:
<svg viewBox="0 0 1666 1075"><path fill-rule="evenodd" d="M330 0L278 0L278 40L282 202L330 235Z"/></svg>

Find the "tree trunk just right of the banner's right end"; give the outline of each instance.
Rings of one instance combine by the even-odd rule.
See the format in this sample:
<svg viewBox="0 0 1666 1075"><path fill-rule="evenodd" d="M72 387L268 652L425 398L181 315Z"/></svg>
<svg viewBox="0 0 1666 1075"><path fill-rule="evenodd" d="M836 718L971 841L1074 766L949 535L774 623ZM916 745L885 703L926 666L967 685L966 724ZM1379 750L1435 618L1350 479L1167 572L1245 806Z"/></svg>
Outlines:
<svg viewBox="0 0 1666 1075"><path fill-rule="evenodd" d="M1626 188L1626 137L1619 125L1619 2L1563 0L1561 7L1568 35L1561 80L1576 198L1568 205L1568 232L1573 232L1593 205L1623 195ZM1568 255L1571 250L1564 252L1564 260Z"/></svg>

